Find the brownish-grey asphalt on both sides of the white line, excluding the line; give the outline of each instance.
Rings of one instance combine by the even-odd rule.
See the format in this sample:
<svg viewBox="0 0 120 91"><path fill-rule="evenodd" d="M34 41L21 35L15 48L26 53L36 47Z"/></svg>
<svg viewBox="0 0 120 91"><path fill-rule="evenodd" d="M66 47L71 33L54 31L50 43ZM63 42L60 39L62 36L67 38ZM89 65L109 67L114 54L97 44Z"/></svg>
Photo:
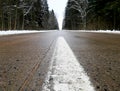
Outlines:
<svg viewBox="0 0 120 91"><path fill-rule="evenodd" d="M96 91L120 91L120 35L43 32L0 37L0 91L41 91L63 37Z"/></svg>

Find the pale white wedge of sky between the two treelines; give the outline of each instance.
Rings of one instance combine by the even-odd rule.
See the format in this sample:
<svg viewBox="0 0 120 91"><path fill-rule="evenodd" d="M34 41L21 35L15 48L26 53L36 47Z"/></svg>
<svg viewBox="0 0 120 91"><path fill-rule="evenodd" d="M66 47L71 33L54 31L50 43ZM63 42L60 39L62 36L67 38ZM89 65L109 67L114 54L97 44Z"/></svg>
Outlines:
<svg viewBox="0 0 120 91"><path fill-rule="evenodd" d="M54 10L60 29L62 28L62 22L67 2L68 0L48 0L49 10Z"/></svg>

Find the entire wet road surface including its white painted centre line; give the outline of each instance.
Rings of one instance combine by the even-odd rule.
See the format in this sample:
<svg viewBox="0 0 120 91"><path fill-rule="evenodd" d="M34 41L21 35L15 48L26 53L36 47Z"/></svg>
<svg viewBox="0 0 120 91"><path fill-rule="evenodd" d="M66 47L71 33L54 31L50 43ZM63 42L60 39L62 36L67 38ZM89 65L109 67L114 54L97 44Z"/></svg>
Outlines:
<svg viewBox="0 0 120 91"><path fill-rule="evenodd" d="M73 81L66 81L62 77L71 76L71 70ZM0 91L83 91L82 80L76 81L81 74L90 82L81 84L93 86L91 91L120 90L119 34L54 31L0 37ZM55 84L60 82L73 88Z"/></svg>

